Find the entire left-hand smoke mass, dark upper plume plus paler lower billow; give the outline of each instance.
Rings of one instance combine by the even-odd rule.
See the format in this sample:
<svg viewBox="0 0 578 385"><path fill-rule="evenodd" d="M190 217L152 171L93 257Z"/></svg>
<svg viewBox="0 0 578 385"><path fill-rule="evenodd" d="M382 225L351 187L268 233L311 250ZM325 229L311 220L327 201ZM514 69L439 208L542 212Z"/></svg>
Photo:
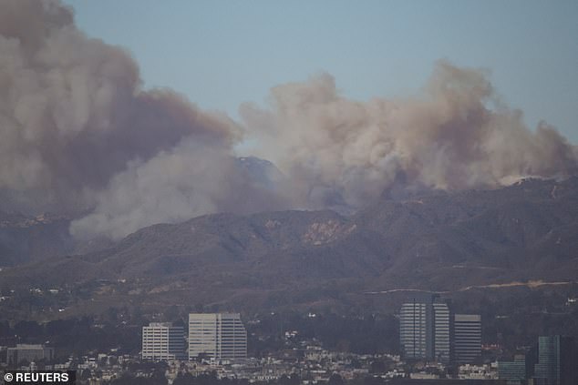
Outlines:
<svg viewBox="0 0 578 385"><path fill-rule="evenodd" d="M227 117L142 90L133 59L80 32L60 3L0 3L0 208L90 210L72 232L113 238L272 208L231 166L239 139Z"/></svg>

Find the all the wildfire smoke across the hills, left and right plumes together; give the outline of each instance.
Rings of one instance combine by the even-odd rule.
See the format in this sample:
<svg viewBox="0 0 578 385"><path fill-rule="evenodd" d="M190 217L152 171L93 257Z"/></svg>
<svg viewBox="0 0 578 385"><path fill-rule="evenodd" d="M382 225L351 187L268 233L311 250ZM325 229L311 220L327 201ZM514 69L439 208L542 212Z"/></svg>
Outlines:
<svg viewBox="0 0 578 385"><path fill-rule="evenodd" d="M3 0L0 209L84 212L75 236L120 238L217 211L359 208L400 181L496 187L577 169L557 131L524 127L483 74L447 63L421 99L358 103L331 76L277 86L272 99L243 106L241 124L143 90L134 60L84 35L66 6ZM243 132L284 172L277 188L239 167Z"/></svg>

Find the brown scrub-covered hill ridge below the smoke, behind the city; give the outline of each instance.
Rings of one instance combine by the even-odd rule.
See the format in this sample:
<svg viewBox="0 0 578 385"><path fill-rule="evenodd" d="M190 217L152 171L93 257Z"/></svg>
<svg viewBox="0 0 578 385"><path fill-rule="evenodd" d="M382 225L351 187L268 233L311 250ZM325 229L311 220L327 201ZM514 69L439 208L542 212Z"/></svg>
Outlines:
<svg viewBox="0 0 578 385"><path fill-rule="evenodd" d="M383 198L351 217L208 215L142 228L98 252L5 268L0 279L44 286L111 282L95 291L97 302L256 308L366 291L577 280L578 177Z"/></svg>

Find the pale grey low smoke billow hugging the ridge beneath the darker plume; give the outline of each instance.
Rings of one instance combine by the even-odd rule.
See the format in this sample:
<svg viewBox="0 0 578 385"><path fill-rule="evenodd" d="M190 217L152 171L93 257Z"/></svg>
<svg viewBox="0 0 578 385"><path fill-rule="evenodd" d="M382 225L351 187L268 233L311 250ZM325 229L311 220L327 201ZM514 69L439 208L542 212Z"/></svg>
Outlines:
<svg viewBox="0 0 578 385"><path fill-rule="evenodd" d="M92 214L72 223L73 235L119 238L153 223L281 205L271 191L253 185L227 148L207 148L194 139L146 162L130 162L97 200Z"/></svg>

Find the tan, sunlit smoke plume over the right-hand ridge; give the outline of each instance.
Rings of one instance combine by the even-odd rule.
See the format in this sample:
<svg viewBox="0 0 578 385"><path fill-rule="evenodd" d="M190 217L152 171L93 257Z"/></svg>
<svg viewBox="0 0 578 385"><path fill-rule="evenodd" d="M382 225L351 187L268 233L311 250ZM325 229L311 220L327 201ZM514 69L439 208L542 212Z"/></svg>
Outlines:
<svg viewBox="0 0 578 385"><path fill-rule="evenodd" d="M358 208L399 181L459 190L578 170L576 148L555 129L528 129L483 72L443 61L421 98L359 103L322 75L276 86L271 100L271 109L245 105L241 112L261 144L258 155L293 181L288 194L296 205Z"/></svg>

